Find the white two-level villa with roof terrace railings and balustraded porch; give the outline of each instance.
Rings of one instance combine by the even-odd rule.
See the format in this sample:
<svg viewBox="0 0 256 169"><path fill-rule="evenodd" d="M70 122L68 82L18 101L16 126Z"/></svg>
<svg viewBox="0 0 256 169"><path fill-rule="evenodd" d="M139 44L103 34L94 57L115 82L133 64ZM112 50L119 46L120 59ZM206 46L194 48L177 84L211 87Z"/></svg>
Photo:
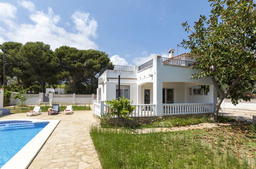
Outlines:
<svg viewBox="0 0 256 169"><path fill-rule="evenodd" d="M212 113L217 93L211 79L191 79L200 70L191 68L194 60L189 53L168 53L169 58L155 56L140 66L115 65L101 72L94 113L106 112L104 101L117 99L119 75L121 97L136 107L131 117ZM200 85L209 85L209 92L203 93Z"/></svg>

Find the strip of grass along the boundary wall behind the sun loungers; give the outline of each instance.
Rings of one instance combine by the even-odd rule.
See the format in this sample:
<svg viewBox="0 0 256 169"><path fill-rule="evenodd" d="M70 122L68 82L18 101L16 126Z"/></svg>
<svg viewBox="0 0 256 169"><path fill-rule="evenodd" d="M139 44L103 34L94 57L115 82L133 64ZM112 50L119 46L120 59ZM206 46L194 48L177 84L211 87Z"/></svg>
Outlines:
<svg viewBox="0 0 256 169"><path fill-rule="evenodd" d="M42 112L48 112L48 109L51 108L50 105L41 106L40 109ZM60 111L63 112L67 108L67 105L60 105ZM72 105L73 111L80 111L80 110L91 110L90 106L87 105ZM7 107L6 109L11 109L11 113L27 113L34 109L33 106L14 106L14 107Z"/></svg>

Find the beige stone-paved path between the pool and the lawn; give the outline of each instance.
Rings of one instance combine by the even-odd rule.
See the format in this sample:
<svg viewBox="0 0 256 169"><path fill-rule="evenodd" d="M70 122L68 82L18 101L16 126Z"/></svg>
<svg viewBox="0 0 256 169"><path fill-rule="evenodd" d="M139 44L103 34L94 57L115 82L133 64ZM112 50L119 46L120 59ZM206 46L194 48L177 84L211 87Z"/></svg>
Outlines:
<svg viewBox="0 0 256 169"><path fill-rule="evenodd" d="M96 122L91 111L75 111L72 115L0 116L0 120L22 118L61 120L29 168L102 168L89 133L90 124Z"/></svg>

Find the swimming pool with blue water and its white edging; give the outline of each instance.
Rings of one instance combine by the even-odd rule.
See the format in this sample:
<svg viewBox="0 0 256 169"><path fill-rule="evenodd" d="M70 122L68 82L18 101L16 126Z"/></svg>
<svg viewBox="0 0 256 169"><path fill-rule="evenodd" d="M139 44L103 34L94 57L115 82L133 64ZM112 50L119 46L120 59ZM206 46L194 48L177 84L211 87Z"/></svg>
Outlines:
<svg viewBox="0 0 256 169"><path fill-rule="evenodd" d="M0 168L28 167L59 121L0 121Z"/></svg>

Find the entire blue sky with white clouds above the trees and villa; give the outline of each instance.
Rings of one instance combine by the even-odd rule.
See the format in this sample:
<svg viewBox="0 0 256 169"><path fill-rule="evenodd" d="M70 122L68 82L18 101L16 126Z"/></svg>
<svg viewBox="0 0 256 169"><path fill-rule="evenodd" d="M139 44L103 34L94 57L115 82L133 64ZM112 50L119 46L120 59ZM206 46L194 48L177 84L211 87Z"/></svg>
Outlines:
<svg viewBox="0 0 256 169"><path fill-rule="evenodd" d="M105 51L118 65L139 65L155 54L179 48L193 24L209 15L204 0L180 1L16 1L0 0L0 43L44 41L54 50L62 45Z"/></svg>

